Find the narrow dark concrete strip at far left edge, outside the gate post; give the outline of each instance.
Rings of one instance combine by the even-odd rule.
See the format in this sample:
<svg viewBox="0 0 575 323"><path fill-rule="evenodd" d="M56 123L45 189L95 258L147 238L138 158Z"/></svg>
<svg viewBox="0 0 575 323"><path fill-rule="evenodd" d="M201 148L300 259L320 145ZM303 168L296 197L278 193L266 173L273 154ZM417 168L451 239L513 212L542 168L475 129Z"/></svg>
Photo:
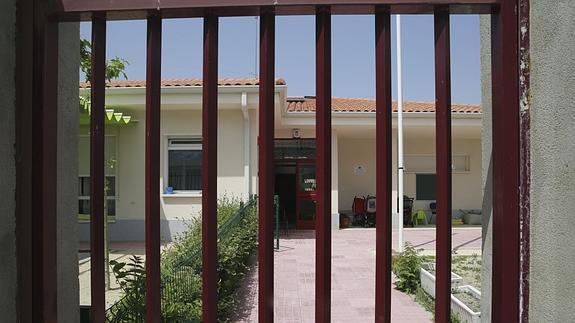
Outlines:
<svg viewBox="0 0 575 323"><path fill-rule="evenodd" d="M16 322L16 1L0 2L0 321Z"/></svg>

